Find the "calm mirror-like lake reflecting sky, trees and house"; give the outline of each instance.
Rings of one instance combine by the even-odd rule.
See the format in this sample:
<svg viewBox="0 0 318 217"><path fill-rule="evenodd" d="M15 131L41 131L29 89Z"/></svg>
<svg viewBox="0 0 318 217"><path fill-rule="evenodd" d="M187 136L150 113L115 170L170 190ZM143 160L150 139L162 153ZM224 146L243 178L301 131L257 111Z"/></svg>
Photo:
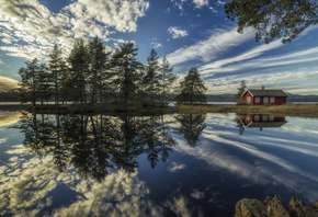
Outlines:
<svg viewBox="0 0 318 217"><path fill-rule="evenodd" d="M234 216L318 199L318 119L0 113L1 216Z"/></svg>

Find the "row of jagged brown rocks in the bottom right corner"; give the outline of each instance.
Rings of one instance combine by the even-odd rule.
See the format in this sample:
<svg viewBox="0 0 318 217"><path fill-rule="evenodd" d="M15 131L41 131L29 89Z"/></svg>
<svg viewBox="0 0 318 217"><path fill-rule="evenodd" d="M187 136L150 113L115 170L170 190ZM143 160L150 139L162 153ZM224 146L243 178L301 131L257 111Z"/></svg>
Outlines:
<svg viewBox="0 0 318 217"><path fill-rule="evenodd" d="M268 196L263 203L243 198L236 204L235 217L318 217L318 201L313 206L293 196L289 205L277 196Z"/></svg>

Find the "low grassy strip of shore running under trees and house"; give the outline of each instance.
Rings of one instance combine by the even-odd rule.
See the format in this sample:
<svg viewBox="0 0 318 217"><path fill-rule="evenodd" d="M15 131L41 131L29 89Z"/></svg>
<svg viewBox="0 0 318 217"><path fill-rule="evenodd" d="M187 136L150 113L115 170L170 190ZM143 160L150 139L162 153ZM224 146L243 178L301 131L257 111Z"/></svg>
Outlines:
<svg viewBox="0 0 318 217"><path fill-rule="evenodd" d="M318 117L318 104L284 105L213 105L213 104L177 104L150 106L148 104L129 103L127 105L106 103L94 104L93 108L79 104L46 105L0 105L2 111L27 111L38 113L238 113L238 114L276 114L286 116Z"/></svg>

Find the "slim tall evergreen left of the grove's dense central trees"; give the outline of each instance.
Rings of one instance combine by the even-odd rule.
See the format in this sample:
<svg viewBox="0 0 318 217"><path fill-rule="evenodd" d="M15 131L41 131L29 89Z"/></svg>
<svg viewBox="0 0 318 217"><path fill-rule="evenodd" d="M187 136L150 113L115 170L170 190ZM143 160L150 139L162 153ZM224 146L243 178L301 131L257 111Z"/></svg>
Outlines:
<svg viewBox="0 0 318 217"><path fill-rule="evenodd" d="M48 70L50 71L53 79L55 104L58 104L61 75L65 73L67 67L66 61L63 59L63 53L57 44L54 45L49 58Z"/></svg>

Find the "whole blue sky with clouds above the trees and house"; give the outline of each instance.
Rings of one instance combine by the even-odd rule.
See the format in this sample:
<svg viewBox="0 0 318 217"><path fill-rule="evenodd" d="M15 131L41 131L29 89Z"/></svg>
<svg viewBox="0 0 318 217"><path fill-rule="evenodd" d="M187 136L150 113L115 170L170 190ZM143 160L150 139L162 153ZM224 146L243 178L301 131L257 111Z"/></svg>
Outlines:
<svg viewBox="0 0 318 217"><path fill-rule="evenodd" d="M111 49L125 42L147 62L151 48L167 56L182 79L196 67L208 94L282 89L318 94L318 26L289 44L254 41L226 19L229 0L1 0L0 90L16 88L25 60L46 60L58 44L68 54L80 38L99 36Z"/></svg>

